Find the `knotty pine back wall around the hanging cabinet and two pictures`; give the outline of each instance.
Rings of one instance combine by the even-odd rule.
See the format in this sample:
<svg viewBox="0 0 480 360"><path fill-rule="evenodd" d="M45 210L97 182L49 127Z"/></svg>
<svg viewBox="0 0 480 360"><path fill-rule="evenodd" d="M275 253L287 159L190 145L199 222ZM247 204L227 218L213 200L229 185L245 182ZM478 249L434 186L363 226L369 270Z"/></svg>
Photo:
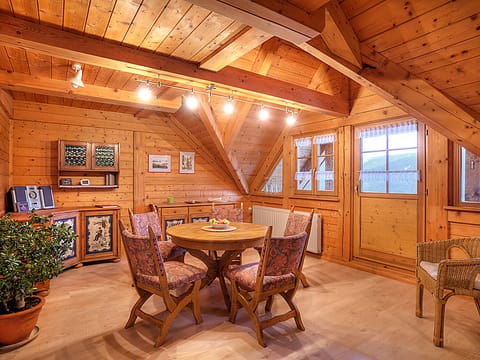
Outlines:
<svg viewBox="0 0 480 360"><path fill-rule="evenodd" d="M56 206L114 203L122 208L148 209L150 203L223 197L237 200L230 180L196 154L195 174L179 174L179 151L193 151L168 126L168 118L136 118L129 114L15 101L13 112L13 179L15 185L52 185ZM118 189L58 189L57 140L120 143ZM149 173L148 154L171 155L170 173Z"/></svg>

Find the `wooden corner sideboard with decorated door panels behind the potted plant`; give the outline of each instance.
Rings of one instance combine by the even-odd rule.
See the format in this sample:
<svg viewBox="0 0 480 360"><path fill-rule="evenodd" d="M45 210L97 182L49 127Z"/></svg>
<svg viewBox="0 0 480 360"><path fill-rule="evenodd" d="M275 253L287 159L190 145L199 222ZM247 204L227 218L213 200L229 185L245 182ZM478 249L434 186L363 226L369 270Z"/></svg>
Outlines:
<svg viewBox="0 0 480 360"><path fill-rule="evenodd" d="M55 223L72 226L78 237L64 256L65 268L90 261L120 259L118 218L120 207L55 208L38 210L36 214L52 216ZM10 213L12 218L27 219L30 213Z"/></svg>

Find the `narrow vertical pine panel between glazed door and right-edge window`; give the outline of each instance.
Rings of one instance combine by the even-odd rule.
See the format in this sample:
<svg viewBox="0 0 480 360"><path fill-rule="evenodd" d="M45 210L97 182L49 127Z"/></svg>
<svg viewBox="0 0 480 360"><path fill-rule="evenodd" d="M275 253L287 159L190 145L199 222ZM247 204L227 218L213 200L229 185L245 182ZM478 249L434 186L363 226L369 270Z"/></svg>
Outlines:
<svg viewBox="0 0 480 360"><path fill-rule="evenodd" d="M448 205L448 139L432 128L427 131L425 240L434 241L448 236L447 213L444 209Z"/></svg>

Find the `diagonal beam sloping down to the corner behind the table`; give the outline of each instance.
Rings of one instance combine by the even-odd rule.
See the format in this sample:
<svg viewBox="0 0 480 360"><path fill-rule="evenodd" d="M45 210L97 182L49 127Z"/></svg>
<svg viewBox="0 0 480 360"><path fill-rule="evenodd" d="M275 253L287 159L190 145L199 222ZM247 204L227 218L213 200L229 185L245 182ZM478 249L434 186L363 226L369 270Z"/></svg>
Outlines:
<svg viewBox="0 0 480 360"><path fill-rule="evenodd" d="M230 176L237 184L238 189L243 194L248 194L248 183L245 179L245 176L238 165L238 161L233 153L227 153L222 142L222 135L217 126L217 121L215 115L210 107L210 104L200 100L200 106L198 109L198 116L200 117L203 125L207 129L207 132L212 139L215 149L222 157L223 162L227 167L227 171L230 173ZM218 164L217 164L218 166Z"/></svg>

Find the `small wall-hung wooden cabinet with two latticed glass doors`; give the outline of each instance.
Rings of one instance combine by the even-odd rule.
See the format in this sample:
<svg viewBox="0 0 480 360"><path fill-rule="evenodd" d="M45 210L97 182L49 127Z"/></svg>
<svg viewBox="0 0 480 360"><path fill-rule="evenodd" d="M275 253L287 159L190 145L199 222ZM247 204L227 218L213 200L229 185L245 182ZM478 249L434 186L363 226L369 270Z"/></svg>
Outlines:
<svg viewBox="0 0 480 360"><path fill-rule="evenodd" d="M59 189L118 188L120 145L58 141ZM82 184L84 181L86 184Z"/></svg>

